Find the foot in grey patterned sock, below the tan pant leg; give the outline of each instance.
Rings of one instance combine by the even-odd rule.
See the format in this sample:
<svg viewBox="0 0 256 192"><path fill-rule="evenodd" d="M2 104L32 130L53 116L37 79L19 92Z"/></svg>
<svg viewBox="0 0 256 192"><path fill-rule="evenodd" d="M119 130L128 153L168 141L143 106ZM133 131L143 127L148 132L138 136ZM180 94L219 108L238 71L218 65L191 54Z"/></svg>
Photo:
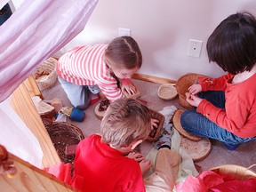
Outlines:
<svg viewBox="0 0 256 192"><path fill-rule="evenodd" d="M159 148L170 148L171 149L171 145L172 145L172 124L167 124L164 127L164 132L162 134L162 136L160 136L158 138L158 140L156 140L154 142L154 148L156 148L157 150Z"/></svg>

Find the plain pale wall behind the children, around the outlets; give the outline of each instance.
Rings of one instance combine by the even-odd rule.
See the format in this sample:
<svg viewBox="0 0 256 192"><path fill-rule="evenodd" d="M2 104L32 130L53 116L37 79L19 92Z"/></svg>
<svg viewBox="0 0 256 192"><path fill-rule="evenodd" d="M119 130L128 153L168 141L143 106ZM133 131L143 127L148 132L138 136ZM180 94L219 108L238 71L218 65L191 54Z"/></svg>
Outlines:
<svg viewBox="0 0 256 192"><path fill-rule="evenodd" d="M174 80L187 72L219 76L224 72L207 59L207 38L221 20L244 10L256 15L256 1L100 0L84 31L56 55L75 45L108 43L118 28L130 28L143 54L141 74ZM187 56L189 38L204 42L200 58Z"/></svg>

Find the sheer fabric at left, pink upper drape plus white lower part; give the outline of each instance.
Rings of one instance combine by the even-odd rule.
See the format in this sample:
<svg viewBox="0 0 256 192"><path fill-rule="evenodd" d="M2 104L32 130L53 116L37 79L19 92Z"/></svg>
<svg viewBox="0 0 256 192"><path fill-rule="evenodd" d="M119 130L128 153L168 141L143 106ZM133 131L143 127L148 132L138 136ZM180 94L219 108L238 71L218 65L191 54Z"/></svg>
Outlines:
<svg viewBox="0 0 256 192"><path fill-rule="evenodd" d="M24 0L0 26L0 143L41 166L38 140L9 105L8 96L37 65L80 33L98 0Z"/></svg>

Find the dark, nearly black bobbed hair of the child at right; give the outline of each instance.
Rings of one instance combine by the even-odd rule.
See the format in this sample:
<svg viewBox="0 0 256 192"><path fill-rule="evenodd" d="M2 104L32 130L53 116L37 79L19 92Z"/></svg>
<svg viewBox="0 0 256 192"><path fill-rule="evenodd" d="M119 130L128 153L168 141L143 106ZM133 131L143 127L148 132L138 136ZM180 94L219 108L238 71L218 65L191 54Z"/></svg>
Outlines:
<svg viewBox="0 0 256 192"><path fill-rule="evenodd" d="M256 61L256 20L249 12L237 12L222 20L206 45L209 61L236 75L250 71Z"/></svg>

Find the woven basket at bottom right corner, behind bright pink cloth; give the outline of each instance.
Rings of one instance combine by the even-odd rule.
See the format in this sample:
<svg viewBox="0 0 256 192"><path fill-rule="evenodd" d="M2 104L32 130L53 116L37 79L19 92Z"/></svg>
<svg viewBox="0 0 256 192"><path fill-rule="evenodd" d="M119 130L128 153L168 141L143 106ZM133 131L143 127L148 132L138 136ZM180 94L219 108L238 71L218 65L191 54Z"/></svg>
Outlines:
<svg viewBox="0 0 256 192"><path fill-rule="evenodd" d="M237 180L252 180L256 179L256 172L253 172L252 167L255 167L256 164L245 168L236 164L224 164L211 169L211 171L231 176Z"/></svg>

